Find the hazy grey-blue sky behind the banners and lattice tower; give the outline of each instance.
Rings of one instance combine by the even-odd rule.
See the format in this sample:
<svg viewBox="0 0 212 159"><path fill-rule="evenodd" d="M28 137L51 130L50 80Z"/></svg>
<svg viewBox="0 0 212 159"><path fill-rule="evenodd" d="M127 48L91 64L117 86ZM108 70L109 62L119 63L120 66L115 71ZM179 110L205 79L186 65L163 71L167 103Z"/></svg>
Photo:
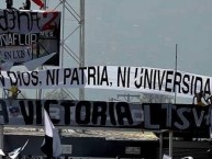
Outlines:
<svg viewBox="0 0 212 159"><path fill-rule="evenodd" d="M22 0L14 0L20 7ZM59 1L46 0L48 9ZM79 0L67 0L78 11ZM1 3L2 4L2 3ZM2 4L2 8L5 8ZM32 9L38 7L32 4ZM62 10L62 5L57 8ZM136 66L212 76L211 0L86 0L86 66ZM65 12L65 35L77 21ZM67 44L77 52L78 34ZM65 67L78 64L65 54ZM78 96L77 90L70 90ZM104 100L134 92L86 90L86 100ZM189 99L190 100L190 99ZM179 100L181 102L183 100ZM191 101L191 100L190 100Z"/></svg>

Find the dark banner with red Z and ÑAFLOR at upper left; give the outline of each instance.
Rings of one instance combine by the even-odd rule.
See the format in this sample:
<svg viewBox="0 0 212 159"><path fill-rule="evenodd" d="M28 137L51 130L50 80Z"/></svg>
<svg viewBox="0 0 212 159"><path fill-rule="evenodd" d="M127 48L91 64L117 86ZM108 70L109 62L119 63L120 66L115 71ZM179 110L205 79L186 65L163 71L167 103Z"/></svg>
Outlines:
<svg viewBox="0 0 212 159"><path fill-rule="evenodd" d="M0 58L14 65L55 54L44 65L59 66L60 12L0 10Z"/></svg>

